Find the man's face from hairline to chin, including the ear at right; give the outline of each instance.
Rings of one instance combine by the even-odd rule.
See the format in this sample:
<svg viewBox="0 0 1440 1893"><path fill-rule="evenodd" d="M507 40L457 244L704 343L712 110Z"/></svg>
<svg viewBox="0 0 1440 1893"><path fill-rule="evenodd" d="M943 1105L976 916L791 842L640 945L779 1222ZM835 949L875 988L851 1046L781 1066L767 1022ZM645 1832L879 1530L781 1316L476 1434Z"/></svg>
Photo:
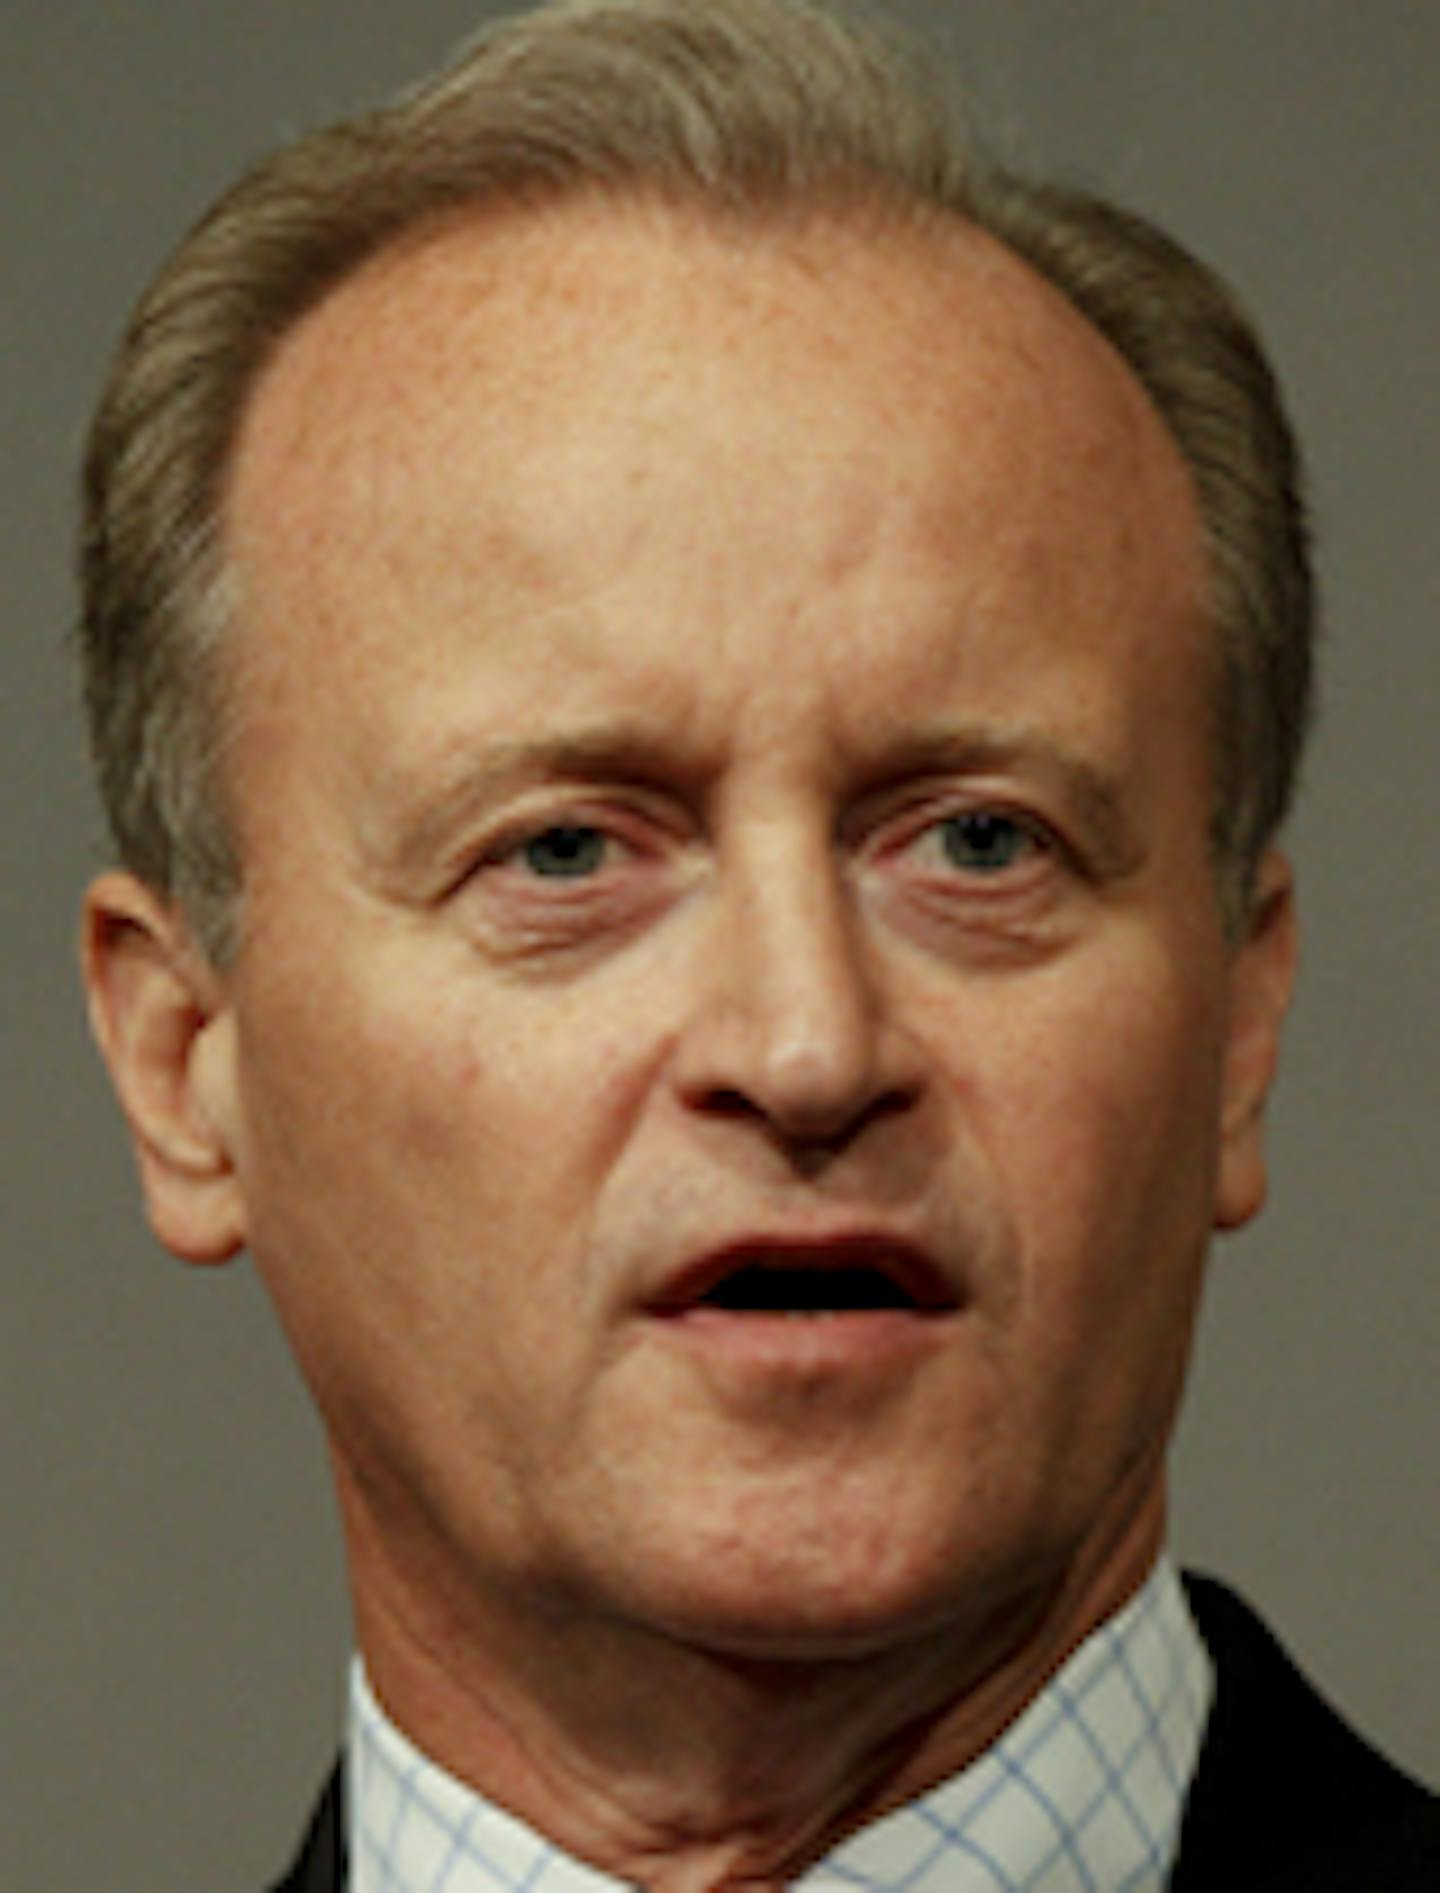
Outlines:
<svg viewBox="0 0 1440 1893"><path fill-rule="evenodd" d="M1105 345L575 206L337 293L231 502L220 1121L367 1556L819 1651L1149 1531L1273 1020Z"/></svg>

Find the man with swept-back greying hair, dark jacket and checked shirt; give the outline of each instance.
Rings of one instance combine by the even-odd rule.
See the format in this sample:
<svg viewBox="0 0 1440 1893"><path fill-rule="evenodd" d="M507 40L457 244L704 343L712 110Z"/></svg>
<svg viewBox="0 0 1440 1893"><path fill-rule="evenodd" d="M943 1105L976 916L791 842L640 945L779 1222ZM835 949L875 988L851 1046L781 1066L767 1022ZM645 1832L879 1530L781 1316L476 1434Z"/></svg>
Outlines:
<svg viewBox="0 0 1440 1893"><path fill-rule="evenodd" d="M1164 1560L1264 1194L1309 664L1213 278L780 0L558 6L121 350L87 907L360 1662L291 1887L1421 1887Z"/></svg>

